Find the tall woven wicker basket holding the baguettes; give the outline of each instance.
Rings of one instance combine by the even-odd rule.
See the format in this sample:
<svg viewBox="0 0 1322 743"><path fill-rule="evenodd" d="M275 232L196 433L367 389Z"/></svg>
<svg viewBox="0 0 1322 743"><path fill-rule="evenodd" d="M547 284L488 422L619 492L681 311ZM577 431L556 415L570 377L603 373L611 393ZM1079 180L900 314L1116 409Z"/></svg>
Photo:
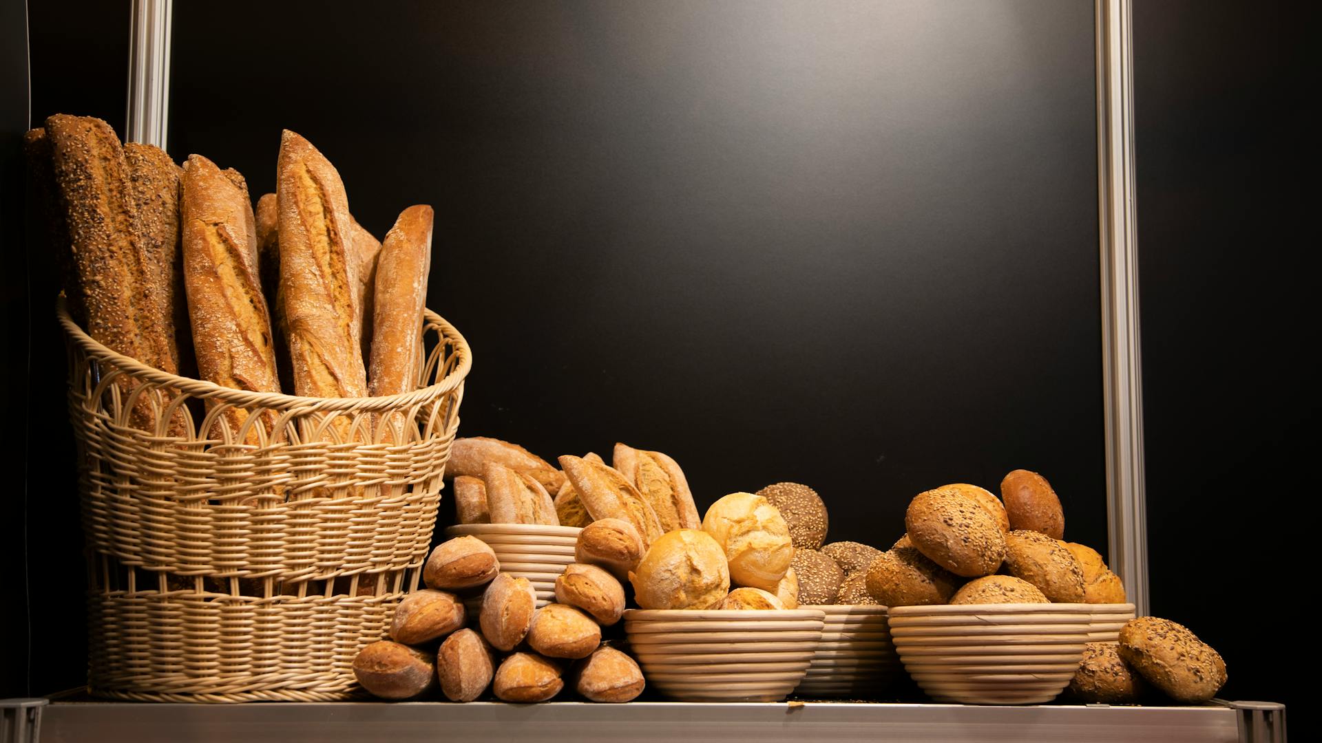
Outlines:
<svg viewBox="0 0 1322 743"><path fill-rule="evenodd" d="M89 337L61 301L89 553L89 689L334 701L418 578L472 353L426 311L416 391L221 387ZM226 410L249 412L231 430ZM145 426L143 420L149 420ZM145 428L145 430L144 430Z"/></svg>

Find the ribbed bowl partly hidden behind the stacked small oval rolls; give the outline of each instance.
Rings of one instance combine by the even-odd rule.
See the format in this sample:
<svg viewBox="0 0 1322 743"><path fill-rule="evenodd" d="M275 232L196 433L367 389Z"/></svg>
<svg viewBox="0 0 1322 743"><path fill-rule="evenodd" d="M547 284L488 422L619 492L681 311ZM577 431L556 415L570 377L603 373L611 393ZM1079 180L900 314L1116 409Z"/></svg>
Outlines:
<svg viewBox="0 0 1322 743"><path fill-rule="evenodd" d="M582 530L537 524L460 524L447 528L446 535L471 535L486 542L500 561L500 571L527 578L537 591L537 606L543 607L555 602L555 579L574 562L574 545Z"/></svg>

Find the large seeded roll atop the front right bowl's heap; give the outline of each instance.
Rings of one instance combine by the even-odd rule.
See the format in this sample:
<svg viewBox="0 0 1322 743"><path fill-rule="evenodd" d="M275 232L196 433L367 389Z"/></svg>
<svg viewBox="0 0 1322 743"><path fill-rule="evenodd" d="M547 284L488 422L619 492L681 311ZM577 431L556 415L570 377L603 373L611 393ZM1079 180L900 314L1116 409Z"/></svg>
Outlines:
<svg viewBox="0 0 1322 743"><path fill-rule="evenodd" d="M915 496L904 528L920 553L964 578L992 575L1005 561L1005 531L977 501L953 490Z"/></svg>

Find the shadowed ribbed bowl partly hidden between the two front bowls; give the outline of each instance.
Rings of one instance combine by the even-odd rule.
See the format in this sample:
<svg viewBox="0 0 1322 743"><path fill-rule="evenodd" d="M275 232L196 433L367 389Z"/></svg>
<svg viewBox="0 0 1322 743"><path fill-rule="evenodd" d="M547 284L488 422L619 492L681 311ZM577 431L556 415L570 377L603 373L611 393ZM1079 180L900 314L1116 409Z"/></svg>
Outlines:
<svg viewBox="0 0 1322 743"><path fill-rule="evenodd" d="M826 615L822 639L804 680L800 697L866 699L880 695L900 673L891 644L886 607L801 606Z"/></svg>

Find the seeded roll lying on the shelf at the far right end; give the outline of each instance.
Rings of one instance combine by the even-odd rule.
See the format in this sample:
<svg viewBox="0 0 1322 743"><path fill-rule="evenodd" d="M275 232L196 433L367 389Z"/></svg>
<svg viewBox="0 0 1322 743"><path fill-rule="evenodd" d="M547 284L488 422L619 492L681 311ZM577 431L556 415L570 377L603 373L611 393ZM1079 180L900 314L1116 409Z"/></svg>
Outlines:
<svg viewBox="0 0 1322 743"><path fill-rule="evenodd" d="M1206 702L1225 685L1225 661L1187 627L1140 616L1120 628L1120 657L1167 697Z"/></svg>

